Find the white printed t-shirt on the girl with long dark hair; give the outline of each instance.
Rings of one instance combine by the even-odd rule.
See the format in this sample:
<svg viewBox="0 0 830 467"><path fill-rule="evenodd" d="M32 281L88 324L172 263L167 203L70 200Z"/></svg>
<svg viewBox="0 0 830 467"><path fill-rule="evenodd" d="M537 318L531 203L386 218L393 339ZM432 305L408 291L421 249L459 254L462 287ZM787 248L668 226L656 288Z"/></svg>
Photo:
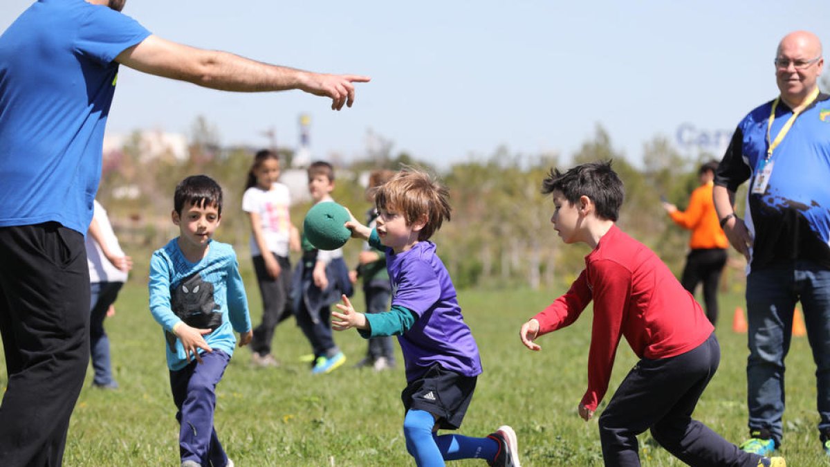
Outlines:
<svg viewBox="0 0 830 467"><path fill-rule="evenodd" d="M285 184L275 183L271 189L264 190L252 186L242 196L242 210L260 216L262 234L271 253L288 256L288 240L291 237L291 195ZM251 255L259 256L259 245L251 234Z"/></svg>

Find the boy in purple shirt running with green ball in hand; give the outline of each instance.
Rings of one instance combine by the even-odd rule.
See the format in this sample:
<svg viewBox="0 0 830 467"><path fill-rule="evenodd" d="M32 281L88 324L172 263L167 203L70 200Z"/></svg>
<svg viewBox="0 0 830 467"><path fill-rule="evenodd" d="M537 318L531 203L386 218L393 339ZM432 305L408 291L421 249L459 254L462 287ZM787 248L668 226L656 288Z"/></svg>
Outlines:
<svg viewBox="0 0 830 467"><path fill-rule="evenodd" d="M489 465L519 467L515 432L500 426L486 438L437 435L457 430L470 405L481 358L470 327L461 316L456 289L447 268L427 241L450 219L447 189L417 170L403 170L378 187L377 228L370 230L354 216L345 225L354 238L369 240L386 252L392 283L392 309L364 314L349 298L332 312L336 331L356 327L364 338L398 336L407 370L401 393L406 416L407 450L419 467L444 460L484 459Z"/></svg>

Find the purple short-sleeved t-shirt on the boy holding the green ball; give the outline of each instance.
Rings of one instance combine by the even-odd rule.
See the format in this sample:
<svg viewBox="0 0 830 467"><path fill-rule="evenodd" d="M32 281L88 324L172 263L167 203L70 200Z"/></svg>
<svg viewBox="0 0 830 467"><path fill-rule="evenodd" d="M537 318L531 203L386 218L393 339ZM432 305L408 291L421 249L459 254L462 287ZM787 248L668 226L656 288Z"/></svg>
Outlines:
<svg viewBox="0 0 830 467"><path fill-rule="evenodd" d="M418 242L398 254L387 248L386 266L392 306L417 315L413 327L398 336L407 381L416 380L434 363L464 376L481 374L476 339L461 316L456 288L435 253L435 243Z"/></svg>

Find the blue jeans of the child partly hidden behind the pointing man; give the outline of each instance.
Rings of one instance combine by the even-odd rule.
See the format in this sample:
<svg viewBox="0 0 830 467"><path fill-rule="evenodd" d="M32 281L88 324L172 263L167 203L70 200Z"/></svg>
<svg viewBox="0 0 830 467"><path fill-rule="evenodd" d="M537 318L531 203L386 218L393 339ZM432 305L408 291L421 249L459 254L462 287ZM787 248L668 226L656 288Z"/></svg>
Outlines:
<svg viewBox="0 0 830 467"><path fill-rule="evenodd" d="M96 386L117 386L110 366L110 337L104 330L104 320L110 305L115 303L124 283L90 283L90 356Z"/></svg>

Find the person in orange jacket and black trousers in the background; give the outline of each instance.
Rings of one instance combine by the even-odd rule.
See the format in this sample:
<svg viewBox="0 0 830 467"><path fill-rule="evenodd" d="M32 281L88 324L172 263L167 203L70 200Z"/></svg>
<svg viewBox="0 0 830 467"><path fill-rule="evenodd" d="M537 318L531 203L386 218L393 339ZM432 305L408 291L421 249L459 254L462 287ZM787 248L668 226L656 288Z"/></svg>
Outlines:
<svg viewBox="0 0 830 467"><path fill-rule="evenodd" d="M701 186L691 192L689 206L685 211L677 209L674 204L663 202L663 209L666 209L671 220L682 228L691 230L691 251L686 257L681 284L694 295L697 284L703 283L706 317L713 325L718 320L718 283L720 273L726 265L726 250L729 248L729 239L720 227L712 201L712 187L717 168L716 160L701 165L698 172Z"/></svg>

